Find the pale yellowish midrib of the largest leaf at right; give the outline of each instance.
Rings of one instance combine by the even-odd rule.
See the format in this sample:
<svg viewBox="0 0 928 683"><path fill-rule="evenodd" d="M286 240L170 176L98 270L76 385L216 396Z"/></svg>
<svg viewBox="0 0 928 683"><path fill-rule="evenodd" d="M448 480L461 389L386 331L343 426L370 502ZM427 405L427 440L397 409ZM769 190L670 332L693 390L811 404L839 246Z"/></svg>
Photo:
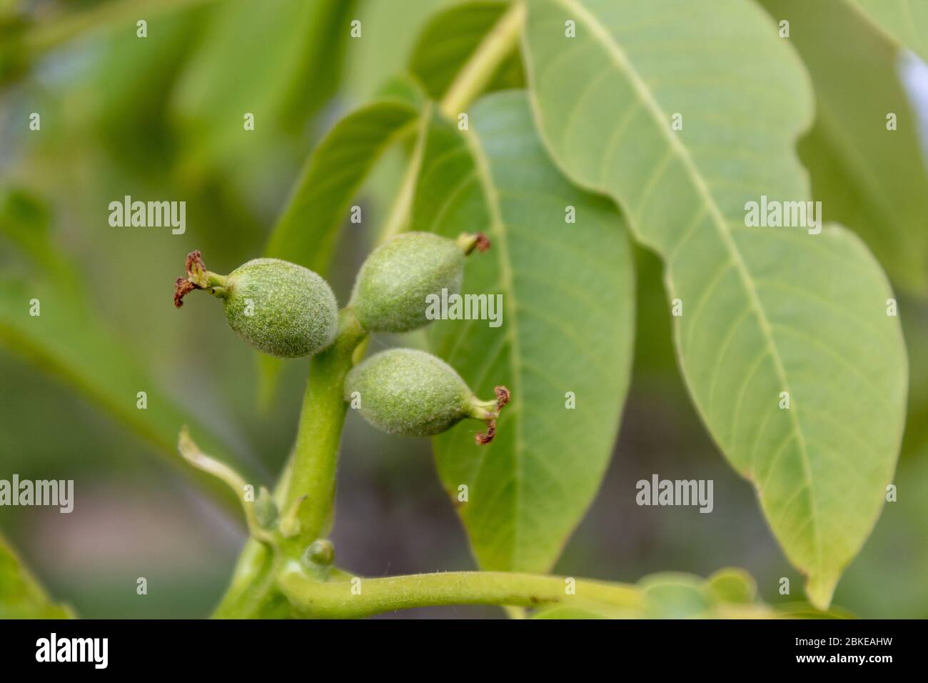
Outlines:
<svg viewBox="0 0 928 683"><path fill-rule="evenodd" d="M697 168L695 162L692 160L690 152L687 151L687 149L683 146L679 138L668 132L669 127L665 125L665 123L669 121L669 118L661 110L660 105L651 97L651 93L648 90L647 85L632 66L627 55L625 55L625 51L612 39L612 35L610 35L602 26L602 24L599 23L599 20L590 14L586 7L584 7L576 0L556 0L556 2L559 2L566 9L574 12L577 19L585 23L589 28L593 38L605 47L607 54L609 54L609 56L615 62L615 66L619 69L620 72L625 72L630 85L632 85L634 92L638 96L638 99L643 102L647 110L651 112L651 116L657 125L657 129L661 132L661 135L664 137L666 143L672 150L677 152L677 157L679 158L680 163L683 164L684 170L690 177L690 180L693 183L697 194L702 198L702 203L709 210L709 214L712 217L710 222L715 226L719 237L722 239L722 242L728 249L729 256L733 259L736 269L738 269L738 273L740 275L745 292L747 293L748 300L752 309L754 309L754 314L756 315L757 322L760 325L761 333L767 338L767 346L770 350L770 357L774 361L775 370L783 387L782 390L788 392L792 399L793 392L790 391L789 383L786 379L786 371L783 367L783 361L780 358L780 351L777 348L776 341L774 340L770 322L767 319L767 312L765 311L763 304L760 301L760 297L757 296L757 292L754 289L754 283L751 282L750 279L750 273L747 269L747 265L744 263L744 259L741 256L741 251L738 249L738 245L731 237L731 233L728 230L728 224L726 223L725 217L722 216L717 204L715 204L712 193L709 191L709 188L702 180L702 176L700 175L699 169ZM816 563L818 571L821 571L821 530L817 523L818 510L813 488L812 472L809 462L808 448L806 445L806 437L803 433L801 425L798 422L796 414L793 412L793 407L790 408L789 414L791 424L793 425L793 431L799 440L799 450L802 455L803 471L806 475L806 481L809 486L812 526L815 529ZM753 476L754 471L752 466L752 477Z"/></svg>

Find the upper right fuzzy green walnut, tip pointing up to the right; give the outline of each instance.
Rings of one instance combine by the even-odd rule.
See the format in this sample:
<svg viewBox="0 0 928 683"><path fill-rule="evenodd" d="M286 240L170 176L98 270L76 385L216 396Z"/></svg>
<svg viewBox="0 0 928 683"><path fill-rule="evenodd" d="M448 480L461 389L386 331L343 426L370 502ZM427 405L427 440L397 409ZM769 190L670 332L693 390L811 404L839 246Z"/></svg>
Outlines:
<svg viewBox="0 0 928 683"><path fill-rule="evenodd" d="M457 241L431 232L396 235L367 256L354 282L349 308L367 332L408 332L430 322L427 296L458 294L464 257L486 251L482 234Z"/></svg>

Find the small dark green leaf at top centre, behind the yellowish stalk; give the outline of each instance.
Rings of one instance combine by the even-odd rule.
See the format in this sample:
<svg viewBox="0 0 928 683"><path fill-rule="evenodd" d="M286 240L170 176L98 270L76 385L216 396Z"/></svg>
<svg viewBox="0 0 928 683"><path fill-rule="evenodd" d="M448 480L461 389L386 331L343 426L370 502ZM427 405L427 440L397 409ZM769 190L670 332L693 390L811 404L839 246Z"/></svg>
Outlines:
<svg viewBox="0 0 928 683"><path fill-rule="evenodd" d="M436 14L419 34L409 58L409 70L419 77L432 99L445 97L458 72L481 46L509 9L505 2L466 2ZM502 59L486 90L523 85L522 59L517 50Z"/></svg>

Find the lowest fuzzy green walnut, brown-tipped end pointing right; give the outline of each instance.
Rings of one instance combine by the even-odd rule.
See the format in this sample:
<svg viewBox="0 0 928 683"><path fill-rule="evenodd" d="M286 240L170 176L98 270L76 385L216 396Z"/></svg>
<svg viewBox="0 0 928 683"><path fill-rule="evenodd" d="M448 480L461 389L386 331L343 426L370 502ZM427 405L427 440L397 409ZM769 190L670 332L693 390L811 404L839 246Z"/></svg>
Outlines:
<svg viewBox="0 0 928 683"><path fill-rule="evenodd" d="M482 420L487 429L477 435L478 444L493 440L496 418L509 402L506 387L496 387L493 401L481 401L445 361L411 348L391 348L360 363L345 378L344 392L367 422L388 434L429 437L465 418Z"/></svg>

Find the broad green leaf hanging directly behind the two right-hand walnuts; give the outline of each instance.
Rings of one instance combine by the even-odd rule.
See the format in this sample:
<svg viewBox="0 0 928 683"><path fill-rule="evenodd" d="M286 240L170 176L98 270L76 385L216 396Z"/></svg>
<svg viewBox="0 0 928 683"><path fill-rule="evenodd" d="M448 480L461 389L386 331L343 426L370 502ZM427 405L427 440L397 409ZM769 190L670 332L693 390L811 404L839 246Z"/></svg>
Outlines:
<svg viewBox="0 0 928 683"><path fill-rule="evenodd" d="M599 488L625 401L635 298L625 226L550 164L521 92L480 100L465 134L435 114L411 224L481 230L493 244L468 259L464 292L501 294L501 326L439 322L431 343L479 395L505 385L512 403L492 444L475 445L464 423L434 440L435 454L453 499L469 489L458 513L481 566L546 571Z"/></svg>

